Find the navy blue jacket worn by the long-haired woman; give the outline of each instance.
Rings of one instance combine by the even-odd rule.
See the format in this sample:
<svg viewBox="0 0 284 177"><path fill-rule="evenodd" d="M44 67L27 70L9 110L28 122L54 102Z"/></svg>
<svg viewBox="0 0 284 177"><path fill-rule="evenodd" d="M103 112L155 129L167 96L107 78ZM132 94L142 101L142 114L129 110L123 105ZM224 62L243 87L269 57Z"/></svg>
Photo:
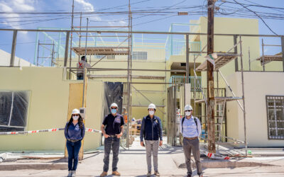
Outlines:
<svg viewBox="0 0 284 177"><path fill-rule="evenodd" d="M65 125L65 138L66 139L71 139L71 140L82 140L84 137L84 123L83 123L83 128L81 130L79 123L76 125L71 122L71 124L68 126L68 122Z"/></svg>

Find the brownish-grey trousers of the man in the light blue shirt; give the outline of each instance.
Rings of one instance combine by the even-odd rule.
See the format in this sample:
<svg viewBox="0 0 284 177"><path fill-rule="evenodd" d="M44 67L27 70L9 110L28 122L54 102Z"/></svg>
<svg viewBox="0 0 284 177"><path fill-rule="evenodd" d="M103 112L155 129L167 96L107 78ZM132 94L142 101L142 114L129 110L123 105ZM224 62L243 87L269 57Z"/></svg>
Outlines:
<svg viewBox="0 0 284 177"><path fill-rule="evenodd" d="M193 157L195 158L195 164L197 167L197 174L202 174L202 167L200 162L200 140L197 139L183 139L182 142L183 152L185 153L185 164L187 165L187 175L192 175L191 169L191 150Z"/></svg>

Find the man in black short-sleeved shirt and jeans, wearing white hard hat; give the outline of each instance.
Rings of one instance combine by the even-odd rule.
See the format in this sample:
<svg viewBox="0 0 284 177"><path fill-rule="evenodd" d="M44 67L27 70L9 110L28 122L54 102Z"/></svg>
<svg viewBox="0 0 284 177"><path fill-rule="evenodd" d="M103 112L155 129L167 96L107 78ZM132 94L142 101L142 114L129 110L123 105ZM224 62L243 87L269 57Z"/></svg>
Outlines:
<svg viewBox="0 0 284 177"><path fill-rule="evenodd" d="M104 135L104 168L100 176L107 176L111 149L113 154L111 174L120 176L120 173L117 171L117 163L119 162L120 137L124 133L124 117L117 113L118 106L116 103L111 103L109 109L111 113L104 118L101 126L102 134Z"/></svg>

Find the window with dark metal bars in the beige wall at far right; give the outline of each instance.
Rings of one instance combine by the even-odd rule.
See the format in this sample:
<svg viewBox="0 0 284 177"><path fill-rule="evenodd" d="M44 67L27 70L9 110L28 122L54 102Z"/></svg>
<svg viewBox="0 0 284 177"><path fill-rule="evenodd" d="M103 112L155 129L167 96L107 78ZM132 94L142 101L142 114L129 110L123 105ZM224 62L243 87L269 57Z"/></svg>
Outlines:
<svg viewBox="0 0 284 177"><path fill-rule="evenodd" d="M268 139L284 139L284 96L266 96Z"/></svg>

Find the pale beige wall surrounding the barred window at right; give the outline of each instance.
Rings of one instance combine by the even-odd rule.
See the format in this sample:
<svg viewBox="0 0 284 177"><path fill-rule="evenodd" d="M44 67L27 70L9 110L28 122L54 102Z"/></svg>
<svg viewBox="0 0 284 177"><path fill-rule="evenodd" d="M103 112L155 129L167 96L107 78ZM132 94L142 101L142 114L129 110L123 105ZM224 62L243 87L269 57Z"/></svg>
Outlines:
<svg viewBox="0 0 284 177"><path fill-rule="evenodd" d="M228 76L227 80L236 95L241 96L241 72ZM284 96L284 73L244 72L244 86L249 146L283 147L283 140L268 139L266 96ZM226 111L228 136L244 140L244 117L238 103L227 103Z"/></svg>

